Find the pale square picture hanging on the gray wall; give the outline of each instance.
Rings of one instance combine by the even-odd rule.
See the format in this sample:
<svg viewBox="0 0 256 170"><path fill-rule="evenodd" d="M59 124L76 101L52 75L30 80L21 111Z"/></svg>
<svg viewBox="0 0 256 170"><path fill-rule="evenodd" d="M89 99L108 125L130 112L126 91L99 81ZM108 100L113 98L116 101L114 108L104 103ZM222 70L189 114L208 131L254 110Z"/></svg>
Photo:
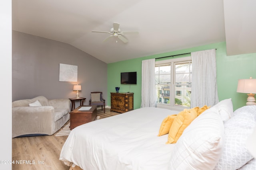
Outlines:
<svg viewBox="0 0 256 170"><path fill-rule="evenodd" d="M60 63L60 82L77 82L78 66Z"/></svg>

